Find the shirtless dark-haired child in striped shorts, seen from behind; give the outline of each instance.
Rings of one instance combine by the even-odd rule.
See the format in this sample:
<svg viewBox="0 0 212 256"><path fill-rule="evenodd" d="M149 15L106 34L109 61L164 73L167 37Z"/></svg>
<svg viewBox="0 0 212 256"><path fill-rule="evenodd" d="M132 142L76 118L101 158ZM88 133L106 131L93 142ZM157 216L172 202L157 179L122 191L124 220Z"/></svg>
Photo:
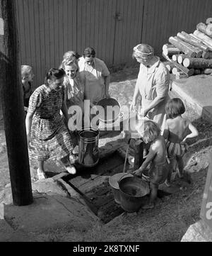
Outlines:
<svg viewBox="0 0 212 256"><path fill-rule="evenodd" d="M165 123L163 137L167 140L167 157L169 157L171 165L170 172L165 181L167 187L170 187L172 170L176 161L179 169L178 175L180 178L183 177L184 165L182 157L188 148L186 140L198 135L198 130L196 130L192 123L182 118L184 111L184 104L178 98L170 99L165 106L168 119Z"/></svg>

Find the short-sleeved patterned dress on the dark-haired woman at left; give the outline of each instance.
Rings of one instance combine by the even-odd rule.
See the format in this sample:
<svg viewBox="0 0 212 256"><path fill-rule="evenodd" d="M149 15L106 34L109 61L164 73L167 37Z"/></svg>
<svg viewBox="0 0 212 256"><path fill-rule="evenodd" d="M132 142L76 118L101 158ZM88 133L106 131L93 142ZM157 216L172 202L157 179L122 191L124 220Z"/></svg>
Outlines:
<svg viewBox="0 0 212 256"><path fill-rule="evenodd" d="M50 91L45 84L30 96L28 113L34 113L30 158L60 160L72 152L73 143L59 113L63 100L64 88Z"/></svg>

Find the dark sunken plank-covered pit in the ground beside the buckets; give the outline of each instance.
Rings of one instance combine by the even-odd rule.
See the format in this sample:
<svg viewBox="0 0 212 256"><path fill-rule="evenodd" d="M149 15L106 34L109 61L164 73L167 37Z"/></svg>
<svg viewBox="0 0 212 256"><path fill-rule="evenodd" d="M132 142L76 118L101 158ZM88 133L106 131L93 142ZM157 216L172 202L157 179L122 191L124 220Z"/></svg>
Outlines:
<svg viewBox="0 0 212 256"><path fill-rule="evenodd" d="M78 177L65 177L64 181L69 184L74 184L74 187L80 191L81 196L88 205L91 211L93 208L97 209L93 211L103 223L112 221L115 217L124 213L124 209L120 204L114 201L112 194L112 187L108 182L110 176L123 172L124 159L118 152L109 157L99 161L98 165L90 168L83 168L78 174ZM126 170L130 168L129 164L126 164ZM96 175L93 179L92 175ZM106 177L101 180L100 177ZM165 191L158 190L158 197L169 195ZM85 199L86 198L86 199ZM148 195L146 196L148 201Z"/></svg>

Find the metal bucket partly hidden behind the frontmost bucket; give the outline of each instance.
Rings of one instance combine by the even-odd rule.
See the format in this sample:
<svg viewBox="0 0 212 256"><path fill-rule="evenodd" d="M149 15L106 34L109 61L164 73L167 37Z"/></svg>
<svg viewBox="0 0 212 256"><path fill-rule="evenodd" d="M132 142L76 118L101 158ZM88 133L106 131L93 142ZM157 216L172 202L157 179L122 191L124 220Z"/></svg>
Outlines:
<svg viewBox="0 0 212 256"><path fill-rule="evenodd" d="M114 201L117 204L121 204L120 196L119 196L119 182L124 177L133 177L133 175L129 173L120 172L109 177L109 184L110 184L110 187L112 188Z"/></svg>

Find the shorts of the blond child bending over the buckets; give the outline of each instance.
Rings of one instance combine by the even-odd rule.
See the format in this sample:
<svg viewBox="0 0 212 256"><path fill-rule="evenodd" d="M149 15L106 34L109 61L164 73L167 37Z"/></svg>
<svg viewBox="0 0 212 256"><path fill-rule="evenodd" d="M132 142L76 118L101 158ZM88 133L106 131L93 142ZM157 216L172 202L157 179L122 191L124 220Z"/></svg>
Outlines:
<svg viewBox="0 0 212 256"><path fill-rule="evenodd" d="M167 174L169 172L169 165L167 161L163 165L151 165L151 168L149 169L149 177L150 182L159 185L163 184L165 182L165 179L167 178Z"/></svg>

